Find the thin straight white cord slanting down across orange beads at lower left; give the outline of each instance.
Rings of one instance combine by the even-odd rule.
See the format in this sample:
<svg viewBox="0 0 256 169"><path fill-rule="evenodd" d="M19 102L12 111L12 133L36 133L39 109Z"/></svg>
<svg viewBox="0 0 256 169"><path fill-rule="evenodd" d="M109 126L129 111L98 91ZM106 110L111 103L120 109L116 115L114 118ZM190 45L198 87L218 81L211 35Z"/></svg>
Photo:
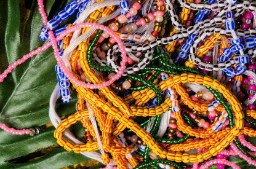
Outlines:
<svg viewBox="0 0 256 169"><path fill-rule="evenodd" d="M98 134L98 127L97 127L97 122L94 117L94 112L92 112L92 108L90 108L90 105L87 103L87 101L86 101L86 107L89 111L90 122L92 122L92 127L94 127L94 131L97 136L98 148L100 149L100 153L102 153L102 155L105 156L105 152L102 147L102 141L100 140L100 135ZM106 165L106 166L108 166L108 168L110 168L110 165Z"/></svg>

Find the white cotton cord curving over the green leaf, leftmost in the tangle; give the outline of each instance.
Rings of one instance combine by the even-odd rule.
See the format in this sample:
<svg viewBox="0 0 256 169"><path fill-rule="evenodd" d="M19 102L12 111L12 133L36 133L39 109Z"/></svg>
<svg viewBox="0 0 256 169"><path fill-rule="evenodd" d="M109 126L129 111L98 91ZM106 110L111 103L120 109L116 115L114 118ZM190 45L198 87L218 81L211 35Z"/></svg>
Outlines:
<svg viewBox="0 0 256 169"><path fill-rule="evenodd" d="M55 86L54 92L52 92L52 95L50 96L50 103L49 103L49 117L55 128L57 128L57 125L60 124L60 122L62 122L60 117L58 117L57 112L55 111L56 101L58 100L59 97L60 97L60 87L57 83L57 85ZM68 128L66 128L63 134L65 135L67 140L72 141L74 144L79 144L79 145L84 144L81 141L77 140ZM85 155L86 157L89 157L90 159L94 159L94 160L97 160L98 162L103 163L101 155L98 152L81 152L81 154ZM113 159L110 159L110 165L116 165L116 162L114 162Z"/></svg>

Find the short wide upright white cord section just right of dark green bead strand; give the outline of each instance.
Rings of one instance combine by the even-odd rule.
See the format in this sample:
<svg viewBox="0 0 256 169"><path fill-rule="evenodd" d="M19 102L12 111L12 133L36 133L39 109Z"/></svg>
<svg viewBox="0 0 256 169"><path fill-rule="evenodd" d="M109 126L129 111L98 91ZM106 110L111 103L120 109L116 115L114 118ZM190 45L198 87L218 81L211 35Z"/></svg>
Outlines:
<svg viewBox="0 0 256 169"><path fill-rule="evenodd" d="M161 116L161 121L160 121L160 125L159 125L159 130L158 133L156 133L156 136L159 136L160 138L162 138L162 136L164 136L164 133L166 133L166 128L169 125L169 121L170 121L170 114L172 113L172 111L167 111L164 112Z"/></svg>

